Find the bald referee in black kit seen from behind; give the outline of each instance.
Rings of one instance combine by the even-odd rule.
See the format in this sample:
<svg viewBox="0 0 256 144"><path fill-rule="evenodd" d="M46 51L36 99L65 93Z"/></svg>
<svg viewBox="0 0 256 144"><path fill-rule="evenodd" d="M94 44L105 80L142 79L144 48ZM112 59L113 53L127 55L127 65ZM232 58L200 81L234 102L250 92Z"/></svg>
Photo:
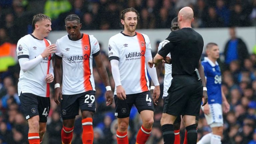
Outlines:
<svg viewBox="0 0 256 144"><path fill-rule="evenodd" d="M154 64L157 65L161 62L168 53L171 53L172 56L173 79L168 89L168 96L164 101L161 119L164 144L174 143L173 123L181 114L187 130L187 142L196 144L195 118L199 115L202 97L204 98L203 105L207 103L208 99L204 72L200 62L204 41L202 36L191 28L193 17L194 13L190 7L182 8L178 14L180 30L170 33L163 48L148 62L150 67L153 67ZM197 71L200 74L197 74Z"/></svg>

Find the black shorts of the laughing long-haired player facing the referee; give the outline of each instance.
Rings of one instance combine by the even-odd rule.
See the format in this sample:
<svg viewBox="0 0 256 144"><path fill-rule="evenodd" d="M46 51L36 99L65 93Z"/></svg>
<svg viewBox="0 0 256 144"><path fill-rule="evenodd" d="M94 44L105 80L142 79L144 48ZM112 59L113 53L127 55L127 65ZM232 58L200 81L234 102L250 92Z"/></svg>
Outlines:
<svg viewBox="0 0 256 144"><path fill-rule="evenodd" d="M143 110L154 111L152 96L149 91L127 94L125 100L121 100L115 95L114 99L116 105L115 115L117 118L129 117L133 104L136 106L139 113Z"/></svg>

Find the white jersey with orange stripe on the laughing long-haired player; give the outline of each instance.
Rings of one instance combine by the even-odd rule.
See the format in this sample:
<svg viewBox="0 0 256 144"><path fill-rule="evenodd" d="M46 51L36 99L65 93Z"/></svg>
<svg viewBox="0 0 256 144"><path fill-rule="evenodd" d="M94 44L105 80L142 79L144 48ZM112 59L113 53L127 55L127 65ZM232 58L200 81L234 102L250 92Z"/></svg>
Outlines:
<svg viewBox="0 0 256 144"><path fill-rule="evenodd" d="M131 37L121 32L109 39L108 50L109 60L119 61L120 80L125 93L148 91L149 81L145 62L146 51L150 51L151 55L148 36L136 32L135 36Z"/></svg>

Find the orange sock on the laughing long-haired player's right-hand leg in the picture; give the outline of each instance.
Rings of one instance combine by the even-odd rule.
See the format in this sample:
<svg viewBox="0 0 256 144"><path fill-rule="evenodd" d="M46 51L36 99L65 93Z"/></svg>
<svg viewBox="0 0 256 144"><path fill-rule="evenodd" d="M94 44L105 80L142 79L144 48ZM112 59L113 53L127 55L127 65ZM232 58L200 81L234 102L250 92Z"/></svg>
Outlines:
<svg viewBox="0 0 256 144"><path fill-rule="evenodd" d="M150 136L150 132L151 129L146 129L142 125L137 134L136 144L145 144Z"/></svg>

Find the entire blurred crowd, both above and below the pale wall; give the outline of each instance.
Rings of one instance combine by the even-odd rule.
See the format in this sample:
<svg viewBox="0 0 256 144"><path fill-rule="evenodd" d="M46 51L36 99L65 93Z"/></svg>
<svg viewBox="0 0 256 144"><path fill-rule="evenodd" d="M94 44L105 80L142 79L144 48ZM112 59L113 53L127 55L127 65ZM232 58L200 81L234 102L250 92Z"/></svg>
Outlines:
<svg viewBox="0 0 256 144"><path fill-rule="evenodd" d="M68 14L81 18L83 30L121 29L119 13L124 8L135 7L140 13L138 27L141 29L169 28L172 18L181 7L190 6L195 12L193 27L255 26L256 0L1 0L0 1L0 144L27 144L28 125L20 111L17 83L20 67L17 63L16 43L22 36L32 33L32 16L44 13L52 18L53 30L64 30L64 19ZM234 42L234 43L231 43ZM152 44L152 48L157 45ZM101 46L100 46L101 47ZM230 47L237 53L234 56ZM230 40L218 60L222 70L222 88L231 109L224 114L223 144L256 143L256 49L248 52L242 38L237 38L235 29L230 29ZM111 66L106 52L101 51L112 89ZM8 57L7 57L8 56ZM230 57L232 56L232 57ZM234 56L234 57L233 57ZM203 56L202 56L203 58ZM9 67L8 67L9 66ZM94 65L95 66L95 65ZM96 113L93 117L94 144L116 144L117 119L115 104L105 106L105 86L93 68L96 85ZM161 95L164 70L159 82ZM60 107L54 102L51 84L51 109L47 133L42 144L61 142L62 119ZM160 126L163 108L162 96L155 107L154 125L147 144L162 144ZM131 110L128 137L129 143L136 141L142 124L135 107ZM73 142L82 143L81 115L76 117ZM181 142L184 139L181 125ZM211 132L203 112L200 112L198 139Z"/></svg>

